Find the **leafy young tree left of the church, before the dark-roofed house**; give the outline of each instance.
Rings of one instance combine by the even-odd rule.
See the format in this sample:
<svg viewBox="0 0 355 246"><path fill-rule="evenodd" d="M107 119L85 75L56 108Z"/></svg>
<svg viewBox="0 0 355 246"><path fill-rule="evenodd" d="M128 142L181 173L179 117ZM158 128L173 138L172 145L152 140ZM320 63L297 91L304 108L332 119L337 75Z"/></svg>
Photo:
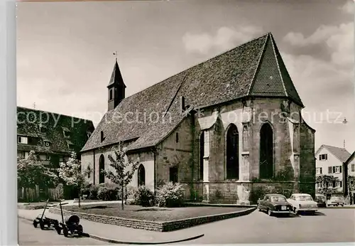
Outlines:
<svg viewBox="0 0 355 246"><path fill-rule="evenodd" d="M75 186L78 190L79 195L79 208L80 196L82 192L82 187L85 183L85 176L92 172L91 169L86 169L82 171L82 163L77 159L75 152L72 152L72 156L66 163L60 164L59 176L67 184L67 186Z"/></svg>

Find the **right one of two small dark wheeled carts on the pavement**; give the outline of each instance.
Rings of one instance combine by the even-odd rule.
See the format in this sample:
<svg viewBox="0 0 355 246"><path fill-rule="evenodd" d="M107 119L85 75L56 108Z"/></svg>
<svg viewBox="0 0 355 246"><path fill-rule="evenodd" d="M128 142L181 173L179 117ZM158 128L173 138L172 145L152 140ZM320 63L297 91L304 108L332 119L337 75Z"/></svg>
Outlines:
<svg viewBox="0 0 355 246"><path fill-rule="evenodd" d="M63 217L63 211L62 211L62 205L65 203L59 203L60 205L60 213L62 215L62 222L60 225L56 228L58 234L61 234L63 231L63 235L67 237L69 234L70 235L75 235L77 234L78 236L82 235L82 225L80 225L80 218L77 215L70 215Z"/></svg>

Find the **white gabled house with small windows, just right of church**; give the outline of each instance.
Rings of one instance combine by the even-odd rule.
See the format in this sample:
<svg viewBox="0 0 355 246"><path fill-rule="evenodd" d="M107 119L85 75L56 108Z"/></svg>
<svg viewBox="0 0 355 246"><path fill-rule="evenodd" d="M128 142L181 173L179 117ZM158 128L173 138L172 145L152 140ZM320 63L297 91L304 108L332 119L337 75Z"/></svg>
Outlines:
<svg viewBox="0 0 355 246"><path fill-rule="evenodd" d="M344 148L322 144L315 153L316 175L327 175L337 178L337 181L328 183L316 183L316 188L329 188L326 194L329 199L332 194L344 196L346 187L344 186L344 162L351 156L349 151Z"/></svg>

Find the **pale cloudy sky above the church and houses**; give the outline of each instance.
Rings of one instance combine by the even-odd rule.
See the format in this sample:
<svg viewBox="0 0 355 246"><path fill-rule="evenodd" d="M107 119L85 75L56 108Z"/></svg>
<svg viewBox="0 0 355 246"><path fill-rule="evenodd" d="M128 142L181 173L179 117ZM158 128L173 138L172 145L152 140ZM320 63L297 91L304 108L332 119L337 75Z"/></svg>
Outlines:
<svg viewBox="0 0 355 246"><path fill-rule="evenodd" d="M114 52L129 96L268 32L316 149L345 140L355 151L354 3L346 0L18 3L17 103L96 126Z"/></svg>

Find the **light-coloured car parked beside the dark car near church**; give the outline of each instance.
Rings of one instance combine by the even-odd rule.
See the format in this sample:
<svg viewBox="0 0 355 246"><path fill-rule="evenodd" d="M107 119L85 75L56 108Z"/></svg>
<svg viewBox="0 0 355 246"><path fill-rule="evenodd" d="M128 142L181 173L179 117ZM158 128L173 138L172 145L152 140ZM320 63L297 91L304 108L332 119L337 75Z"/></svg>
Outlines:
<svg viewBox="0 0 355 246"><path fill-rule="evenodd" d="M310 194L295 193L288 199L288 203L293 205L293 212L310 213L312 215L318 210L317 202L315 202Z"/></svg>

